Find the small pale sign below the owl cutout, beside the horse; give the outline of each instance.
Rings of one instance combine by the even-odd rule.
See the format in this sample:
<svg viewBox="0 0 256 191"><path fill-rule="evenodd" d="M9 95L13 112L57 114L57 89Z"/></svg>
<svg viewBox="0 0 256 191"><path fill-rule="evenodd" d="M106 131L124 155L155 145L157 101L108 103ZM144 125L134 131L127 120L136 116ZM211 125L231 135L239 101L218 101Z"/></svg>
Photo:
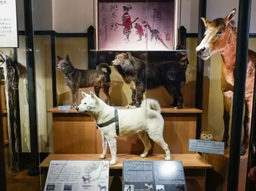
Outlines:
<svg viewBox="0 0 256 191"><path fill-rule="evenodd" d="M224 142L190 139L189 151L224 155Z"/></svg>

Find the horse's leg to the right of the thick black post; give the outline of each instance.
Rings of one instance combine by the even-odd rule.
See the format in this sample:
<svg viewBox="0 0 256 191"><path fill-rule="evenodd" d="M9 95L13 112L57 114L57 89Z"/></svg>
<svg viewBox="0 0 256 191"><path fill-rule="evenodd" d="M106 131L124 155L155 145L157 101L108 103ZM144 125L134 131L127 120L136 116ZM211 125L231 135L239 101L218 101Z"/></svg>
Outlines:
<svg viewBox="0 0 256 191"><path fill-rule="evenodd" d="M249 145L251 120L252 120L252 102L253 93L246 93L245 95L245 117L243 118L243 141L241 145L241 155L246 154L246 149Z"/></svg>

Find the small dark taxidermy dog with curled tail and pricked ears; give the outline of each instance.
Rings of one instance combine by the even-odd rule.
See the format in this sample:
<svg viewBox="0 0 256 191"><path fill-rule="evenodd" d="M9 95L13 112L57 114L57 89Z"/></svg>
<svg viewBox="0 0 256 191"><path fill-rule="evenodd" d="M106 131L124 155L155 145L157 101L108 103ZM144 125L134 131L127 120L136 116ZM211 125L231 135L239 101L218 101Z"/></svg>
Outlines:
<svg viewBox="0 0 256 191"><path fill-rule="evenodd" d="M66 55L66 59L63 59L60 56L57 56L57 58L59 63L56 66L56 69L63 72L66 85L69 86L70 91L72 92L71 109L76 109L79 88L94 87L95 94L98 98L100 89L102 89L107 95L109 104L110 95L108 91L110 87L111 68L107 63L100 63L97 65L97 69L77 69L72 66L69 55ZM106 68L107 72L101 71L102 68Z"/></svg>

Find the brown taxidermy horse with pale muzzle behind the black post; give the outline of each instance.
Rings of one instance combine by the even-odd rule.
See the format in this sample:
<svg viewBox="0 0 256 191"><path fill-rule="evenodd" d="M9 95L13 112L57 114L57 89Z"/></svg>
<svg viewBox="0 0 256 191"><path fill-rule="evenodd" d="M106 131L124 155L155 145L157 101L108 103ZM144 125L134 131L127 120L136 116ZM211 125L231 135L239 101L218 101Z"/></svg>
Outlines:
<svg viewBox="0 0 256 191"><path fill-rule="evenodd" d="M221 90L223 94L223 120L224 135L222 141L225 148L228 147L230 107L234 93L234 72L236 58L236 38L237 28L235 27L236 9L233 9L225 18L216 18L208 21L202 18L206 27L205 36L196 48L197 56L207 60L211 55L220 53L222 58ZM246 92L245 92L245 117L243 119L243 141L241 145L241 155L246 154L249 145L249 135L251 130L253 88L255 75L256 53L248 49Z"/></svg>

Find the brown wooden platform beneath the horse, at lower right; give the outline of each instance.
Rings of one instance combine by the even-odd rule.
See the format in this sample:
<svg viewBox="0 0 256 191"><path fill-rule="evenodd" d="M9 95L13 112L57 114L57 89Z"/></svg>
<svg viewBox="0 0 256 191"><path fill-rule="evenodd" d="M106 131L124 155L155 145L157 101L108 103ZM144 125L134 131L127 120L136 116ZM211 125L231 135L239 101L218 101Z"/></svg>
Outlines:
<svg viewBox="0 0 256 191"><path fill-rule="evenodd" d="M228 182L229 149L225 149L224 155L204 154L202 155L211 165L207 175L206 184L209 191L226 191ZM248 149L246 155L240 157L239 191L245 191L247 177Z"/></svg>

